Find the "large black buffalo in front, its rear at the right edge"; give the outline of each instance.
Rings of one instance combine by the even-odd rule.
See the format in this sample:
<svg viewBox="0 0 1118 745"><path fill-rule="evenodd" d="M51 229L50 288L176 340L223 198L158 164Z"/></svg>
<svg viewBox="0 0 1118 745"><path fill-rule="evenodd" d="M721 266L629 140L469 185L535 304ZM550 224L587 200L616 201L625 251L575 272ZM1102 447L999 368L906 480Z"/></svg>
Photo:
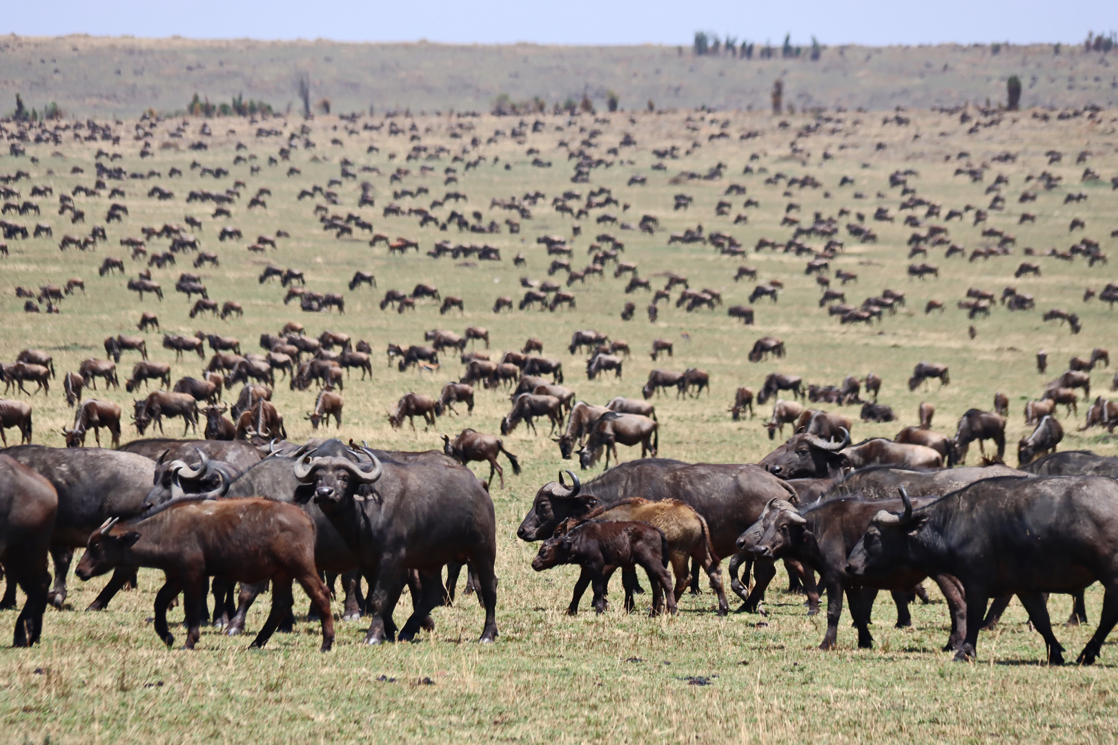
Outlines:
<svg viewBox="0 0 1118 745"><path fill-rule="evenodd" d="M1050 665L1063 662L1045 592L1078 592L1095 581L1112 593L1118 580L1118 485L1091 477L1001 477L972 484L912 509L878 513L847 558L855 579L911 572L950 574L967 603L966 638L955 655L974 659L991 598L1016 594L1044 638ZM1107 602L1107 601L1110 602ZM1112 595L1078 662L1091 665L1118 622Z"/></svg>

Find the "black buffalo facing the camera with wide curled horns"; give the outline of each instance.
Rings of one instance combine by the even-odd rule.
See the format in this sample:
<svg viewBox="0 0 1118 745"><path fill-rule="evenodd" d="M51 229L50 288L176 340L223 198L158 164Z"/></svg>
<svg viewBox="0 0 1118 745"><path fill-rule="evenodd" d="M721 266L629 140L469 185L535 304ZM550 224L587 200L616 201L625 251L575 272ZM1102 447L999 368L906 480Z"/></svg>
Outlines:
<svg viewBox="0 0 1118 745"><path fill-rule="evenodd" d="M313 486L315 504L343 534L359 569L370 577L372 623L366 642L390 641L395 636L391 614L408 570L419 572L421 591L399 639L413 639L430 610L443 603L439 572L451 562L468 562L476 572L485 606L481 640L493 641L498 636L496 525L484 487L470 469L451 465L443 456L439 462L381 462L368 449L363 451L371 465L316 457L312 450L296 460L294 475L300 484ZM361 527L353 529L356 525Z"/></svg>

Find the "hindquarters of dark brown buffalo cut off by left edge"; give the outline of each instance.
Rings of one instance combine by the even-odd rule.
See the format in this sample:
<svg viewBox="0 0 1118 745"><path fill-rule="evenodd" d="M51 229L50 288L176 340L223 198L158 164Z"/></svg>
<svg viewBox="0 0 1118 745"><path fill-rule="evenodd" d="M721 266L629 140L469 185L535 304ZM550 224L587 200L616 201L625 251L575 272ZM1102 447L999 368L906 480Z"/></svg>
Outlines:
<svg viewBox="0 0 1118 745"><path fill-rule="evenodd" d="M13 647L39 640L47 608L47 550L55 529L58 494L50 481L8 456L0 456L0 562L8 581L27 593L16 619Z"/></svg>

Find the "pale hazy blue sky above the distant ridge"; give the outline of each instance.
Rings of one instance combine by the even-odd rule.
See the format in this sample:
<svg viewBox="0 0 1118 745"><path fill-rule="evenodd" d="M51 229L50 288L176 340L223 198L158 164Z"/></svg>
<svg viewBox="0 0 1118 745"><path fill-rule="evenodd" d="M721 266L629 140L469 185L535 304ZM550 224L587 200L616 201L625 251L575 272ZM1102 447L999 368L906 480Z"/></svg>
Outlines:
<svg viewBox="0 0 1118 745"><path fill-rule="evenodd" d="M0 32L508 44L690 44L698 29L871 45L1081 41L1115 0L53 0L6 3Z"/></svg>

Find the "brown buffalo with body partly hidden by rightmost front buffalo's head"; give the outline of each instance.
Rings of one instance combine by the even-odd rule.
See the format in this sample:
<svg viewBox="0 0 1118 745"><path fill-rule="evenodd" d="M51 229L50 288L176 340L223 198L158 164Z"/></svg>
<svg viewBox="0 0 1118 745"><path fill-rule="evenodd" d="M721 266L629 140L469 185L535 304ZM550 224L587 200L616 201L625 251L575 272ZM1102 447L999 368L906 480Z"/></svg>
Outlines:
<svg viewBox="0 0 1118 745"><path fill-rule="evenodd" d="M936 498L918 497L917 504L923 506ZM843 592L850 599L850 612L858 628L858 646L869 649L873 647L873 637L868 628L870 611L878 589L893 590L897 627L903 628L912 623L906 594L922 577L915 581L913 577L903 577L900 582L888 581L892 577L875 577L872 584L863 586L862 582L853 582L846 573L846 556L874 515L882 508L896 509L899 506L900 499L897 498L873 499L859 495L821 499L803 508L784 499L774 499L765 506L760 518L738 538L738 548L758 558L795 558L819 572L819 583L827 593L827 630L819 649L835 647ZM951 610L951 636L945 649L957 649L961 642L965 608L961 593L950 577L937 575L935 580Z"/></svg>

